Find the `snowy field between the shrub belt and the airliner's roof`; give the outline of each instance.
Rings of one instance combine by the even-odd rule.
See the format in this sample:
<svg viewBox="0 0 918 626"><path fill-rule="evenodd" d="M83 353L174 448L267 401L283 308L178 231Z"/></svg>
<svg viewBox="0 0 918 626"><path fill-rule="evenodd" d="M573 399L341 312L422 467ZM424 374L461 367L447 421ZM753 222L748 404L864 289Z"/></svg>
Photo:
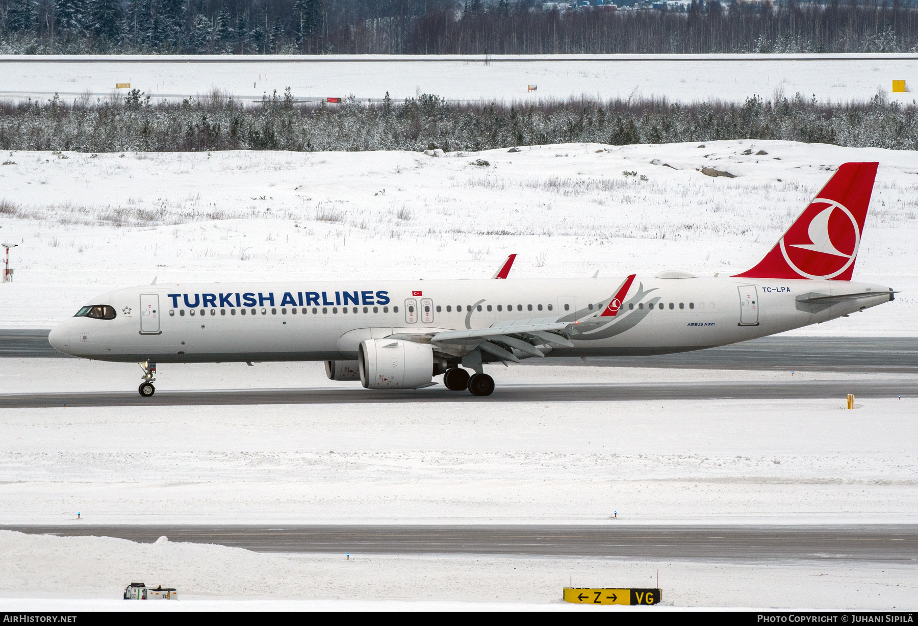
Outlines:
<svg viewBox="0 0 918 626"><path fill-rule="evenodd" d="M770 249L839 163L876 160L855 276L903 293L797 332L918 332L913 151L732 140L446 158L397 151L2 158L10 164L0 165L0 226L3 240L19 247L16 282L0 285L3 301L15 303L0 307L0 328L50 328L93 296L154 276L161 284L354 272L462 278L490 276L510 252L520 254L511 279L735 273ZM701 167L736 178L711 178Z"/></svg>

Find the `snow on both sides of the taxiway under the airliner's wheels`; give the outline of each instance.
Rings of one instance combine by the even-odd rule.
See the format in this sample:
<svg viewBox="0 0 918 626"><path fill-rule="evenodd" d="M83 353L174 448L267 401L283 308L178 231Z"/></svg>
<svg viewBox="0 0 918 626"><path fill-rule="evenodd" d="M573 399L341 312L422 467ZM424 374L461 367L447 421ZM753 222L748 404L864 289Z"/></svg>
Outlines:
<svg viewBox="0 0 918 626"><path fill-rule="evenodd" d="M20 366L53 389L70 376L66 368L85 363L2 362L14 373L0 379L13 381L10 390L35 389L17 379ZM40 374L40 363L52 369ZM85 365L84 380L109 381L93 388L133 388L140 374L127 364ZM241 365L241 376L220 380L232 367L163 367L170 378L162 384L353 386L319 382L317 364ZM498 385L533 382L532 374L561 383L789 377L494 369ZM859 402L857 410L840 410L842 397L499 403L487 410L465 403L7 408L0 411L0 521L918 521L918 400ZM615 510L619 519L610 521Z"/></svg>

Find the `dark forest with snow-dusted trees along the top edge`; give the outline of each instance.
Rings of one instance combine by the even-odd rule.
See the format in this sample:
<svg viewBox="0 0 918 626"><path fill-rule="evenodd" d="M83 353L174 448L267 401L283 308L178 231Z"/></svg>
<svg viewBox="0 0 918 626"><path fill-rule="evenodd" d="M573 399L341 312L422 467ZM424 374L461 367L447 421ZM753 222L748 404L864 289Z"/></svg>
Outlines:
<svg viewBox="0 0 918 626"><path fill-rule="evenodd" d="M916 50L915 0L563 12L535 0L0 0L6 54Z"/></svg>

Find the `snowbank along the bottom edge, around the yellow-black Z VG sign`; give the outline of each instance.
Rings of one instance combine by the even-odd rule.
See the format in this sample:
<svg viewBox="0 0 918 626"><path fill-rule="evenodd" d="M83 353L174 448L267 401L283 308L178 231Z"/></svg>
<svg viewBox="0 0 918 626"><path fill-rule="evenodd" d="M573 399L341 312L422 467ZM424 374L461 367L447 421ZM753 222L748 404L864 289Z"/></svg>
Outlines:
<svg viewBox="0 0 918 626"><path fill-rule="evenodd" d="M135 543L11 531L0 531L0 553L0 611L903 610L918 598L918 568L889 564L357 553L347 561L343 554L263 554L167 539ZM572 579L576 587L656 587L657 570L663 602L656 607L596 608L560 599ZM121 592L132 581L175 587L180 600L124 602Z"/></svg>

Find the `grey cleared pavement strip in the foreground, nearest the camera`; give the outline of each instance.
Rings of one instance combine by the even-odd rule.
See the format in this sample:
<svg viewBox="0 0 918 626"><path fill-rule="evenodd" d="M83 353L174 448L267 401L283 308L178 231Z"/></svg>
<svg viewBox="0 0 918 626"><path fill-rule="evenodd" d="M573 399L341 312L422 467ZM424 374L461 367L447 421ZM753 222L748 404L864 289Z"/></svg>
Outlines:
<svg viewBox="0 0 918 626"><path fill-rule="evenodd" d="M814 559L914 563L918 526L5 526L134 542L219 543L279 553L474 553L694 559Z"/></svg>

